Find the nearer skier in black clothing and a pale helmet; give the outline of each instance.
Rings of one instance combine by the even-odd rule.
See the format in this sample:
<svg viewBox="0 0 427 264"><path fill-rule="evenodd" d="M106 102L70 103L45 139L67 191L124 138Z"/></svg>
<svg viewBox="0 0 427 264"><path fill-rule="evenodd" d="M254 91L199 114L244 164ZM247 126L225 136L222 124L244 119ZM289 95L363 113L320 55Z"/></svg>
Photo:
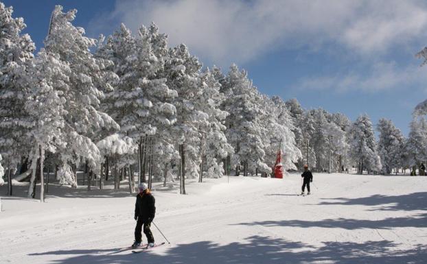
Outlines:
<svg viewBox="0 0 427 264"><path fill-rule="evenodd" d="M137 202L135 203L135 220L137 220L137 226L135 227L135 242L132 248L138 248L141 245L142 226L148 240L148 247L154 247L154 237L152 236L150 225L156 214L155 202L154 196L152 196L150 189L148 189L148 185L145 182L141 182L139 184Z"/></svg>

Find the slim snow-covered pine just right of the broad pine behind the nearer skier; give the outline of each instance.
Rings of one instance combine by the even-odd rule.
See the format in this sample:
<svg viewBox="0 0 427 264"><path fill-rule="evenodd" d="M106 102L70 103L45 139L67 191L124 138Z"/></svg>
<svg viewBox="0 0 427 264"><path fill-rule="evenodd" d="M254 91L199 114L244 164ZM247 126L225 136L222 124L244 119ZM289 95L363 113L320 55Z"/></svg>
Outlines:
<svg viewBox="0 0 427 264"><path fill-rule="evenodd" d="M161 77L166 78L168 87L178 93L173 101L176 122L172 126L171 136L174 136L181 158L178 173L181 194L185 194L185 178L198 177L199 127L209 119L209 115L198 108L198 100L203 93L199 77L201 67L198 58L192 56L187 47L181 44L170 49L164 71L161 73Z"/></svg>

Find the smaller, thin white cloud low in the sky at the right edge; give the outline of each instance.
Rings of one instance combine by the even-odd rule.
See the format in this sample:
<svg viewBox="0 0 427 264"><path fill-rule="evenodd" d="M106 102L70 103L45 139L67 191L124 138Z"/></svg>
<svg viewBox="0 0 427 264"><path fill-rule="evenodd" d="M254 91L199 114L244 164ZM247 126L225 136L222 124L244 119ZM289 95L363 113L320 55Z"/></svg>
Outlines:
<svg viewBox="0 0 427 264"><path fill-rule="evenodd" d="M332 76L307 77L300 80L292 88L300 90L376 93L397 89L408 91L413 86L423 87L426 83L426 69L418 65L411 64L402 69L395 62L380 62L373 64L368 69L368 73L351 72Z"/></svg>

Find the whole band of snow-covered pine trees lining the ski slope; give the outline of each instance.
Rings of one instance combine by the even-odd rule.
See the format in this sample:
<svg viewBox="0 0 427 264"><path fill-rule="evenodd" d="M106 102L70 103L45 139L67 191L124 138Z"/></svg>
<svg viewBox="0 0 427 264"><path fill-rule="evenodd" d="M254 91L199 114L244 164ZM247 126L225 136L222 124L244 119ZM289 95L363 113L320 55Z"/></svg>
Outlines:
<svg viewBox="0 0 427 264"><path fill-rule="evenodd" d="M186 178L270 176L278 149L286 170L308 164L389 174L427 160L422 106L408 139L381 119L377 142L367 115L352 123L263 95L235 64L224 74L203 68L183 44L168 47L154 23L137 35L122 24L95 40L73 25L76 10L57 5L45 46L34 54L23 19L12 12L0 2L0 184L6 176L8 195L12 178L29 180L33 198L40 181L43 201L46 171L77 187L78 169L89 190L93 179L103 189L113 178L119 189L128 178L133 193L135 178L149 187L176 178L185 194Z"/></svg>

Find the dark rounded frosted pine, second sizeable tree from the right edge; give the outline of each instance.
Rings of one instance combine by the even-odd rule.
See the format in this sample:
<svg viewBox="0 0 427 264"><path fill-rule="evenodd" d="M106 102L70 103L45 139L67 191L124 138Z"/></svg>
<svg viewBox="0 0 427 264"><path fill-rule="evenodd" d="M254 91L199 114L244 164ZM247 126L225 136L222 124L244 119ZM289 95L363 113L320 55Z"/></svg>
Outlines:
<svg viewBox="0 0 427 264"><path fill-rule="evenodd" d="M378 154L381 158L382 173L390 174L393 168L397 169L403 165L404 136L391 120L384 118L378 121L377 130L380 132Z"/></svg>

